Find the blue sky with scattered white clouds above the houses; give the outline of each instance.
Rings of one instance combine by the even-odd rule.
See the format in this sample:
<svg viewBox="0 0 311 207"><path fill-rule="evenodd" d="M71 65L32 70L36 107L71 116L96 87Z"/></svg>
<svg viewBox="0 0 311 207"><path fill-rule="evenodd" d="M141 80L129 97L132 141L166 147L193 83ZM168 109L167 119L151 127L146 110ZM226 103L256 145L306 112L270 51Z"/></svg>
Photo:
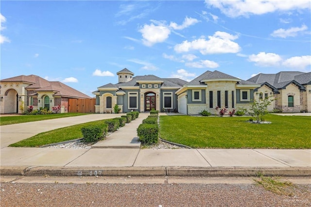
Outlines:
<svg viewBox="0 0 311 207"><path fill-rule="evenodd" d="M35 74L89 96L116 72L247 80L311 71L310 0L0 2L1 79Z"/></svg>

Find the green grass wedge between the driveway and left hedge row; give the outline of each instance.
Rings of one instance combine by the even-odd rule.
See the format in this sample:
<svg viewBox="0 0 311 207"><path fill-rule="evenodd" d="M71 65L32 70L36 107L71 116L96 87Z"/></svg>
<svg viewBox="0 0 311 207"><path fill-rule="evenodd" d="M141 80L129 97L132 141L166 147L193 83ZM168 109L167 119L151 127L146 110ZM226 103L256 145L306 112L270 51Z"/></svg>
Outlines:
<svg viewBox="0 0 311 207"><path fill-rule="evenodd" d="M9 145L9 147L40 147L46 144L58 143L72 139L82 138L81 128L84 126L97 125L106 120L91 121L73 126L54 129L48 132L42 132L34 137L23 139L19 142Z"/></svg>

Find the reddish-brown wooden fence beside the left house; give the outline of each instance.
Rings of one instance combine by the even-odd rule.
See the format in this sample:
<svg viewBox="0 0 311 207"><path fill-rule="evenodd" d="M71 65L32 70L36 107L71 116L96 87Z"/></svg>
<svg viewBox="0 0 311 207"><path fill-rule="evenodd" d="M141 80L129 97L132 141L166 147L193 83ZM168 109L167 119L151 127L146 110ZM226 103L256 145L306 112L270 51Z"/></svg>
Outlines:
<svg viewBox="0 0 311 207"><path fill-rule="evenodd" d="M69 99L68 112L95 113L96 99Z"/></svg>

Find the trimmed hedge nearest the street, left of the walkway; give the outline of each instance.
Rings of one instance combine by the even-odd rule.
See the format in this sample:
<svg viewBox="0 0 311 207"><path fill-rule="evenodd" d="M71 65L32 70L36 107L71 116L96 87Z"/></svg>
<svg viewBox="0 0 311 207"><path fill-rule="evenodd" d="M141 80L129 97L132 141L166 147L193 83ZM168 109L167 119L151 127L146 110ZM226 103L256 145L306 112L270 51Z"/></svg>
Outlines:
<svg viewBox="0 0 311 207"><path fill-rule="evenodd" d="M107 135L108 125L100 124L95 126L86 126L81 128L82 135L86 142L97 141Z"/></svg>

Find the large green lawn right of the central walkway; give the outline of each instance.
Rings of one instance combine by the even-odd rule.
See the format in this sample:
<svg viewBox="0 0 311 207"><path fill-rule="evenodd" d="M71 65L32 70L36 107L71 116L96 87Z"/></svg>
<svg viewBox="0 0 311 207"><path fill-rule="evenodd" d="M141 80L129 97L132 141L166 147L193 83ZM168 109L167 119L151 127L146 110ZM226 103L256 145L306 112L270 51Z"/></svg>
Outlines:
<svg viewBox="0 0 311 207"><path fill-rule="evenodd" d="M271 124L248 119L160 116L160 138L192 148L311 149L311 117L268 114Z"/></svg>

